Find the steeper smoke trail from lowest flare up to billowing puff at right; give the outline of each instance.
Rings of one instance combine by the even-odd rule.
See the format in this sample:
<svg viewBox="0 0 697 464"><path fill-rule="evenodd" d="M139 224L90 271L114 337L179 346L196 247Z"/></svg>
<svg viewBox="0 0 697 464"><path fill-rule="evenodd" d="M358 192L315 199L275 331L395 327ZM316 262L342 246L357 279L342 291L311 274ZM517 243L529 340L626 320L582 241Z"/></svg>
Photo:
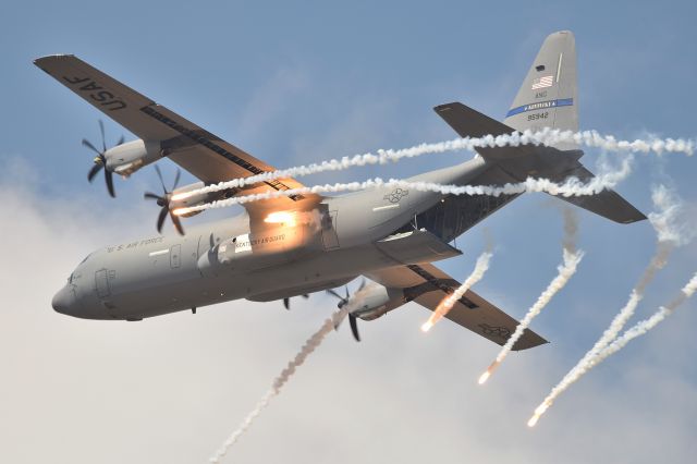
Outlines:
<svg viewBox="0 0 697 464"><path fill-rule="evenodd" d="M692 234L686 232L684 224L680 222L683 216L683 203L665 186L659 185L653 188L651 199L657 208L656 212L649 215L649 220L656 229L658 244L656 254L651 261L644 270L638 283L632 290L629 300L614 317L610 326L602 333L600 339L584 355L584 357L572 368L557 384L551 392L545 398L542 403L535 410L533 417L528 420L528 426L533 427L539 420L539 417L552 405L552 403L575 383L586 371L592 359L602 352L619 333L622 331L626 322L634 315L637 305L644 298L646 288L653 280L656 272L662 269L668 262L668 258L675 246L683 245L692 240Z"/></svg>

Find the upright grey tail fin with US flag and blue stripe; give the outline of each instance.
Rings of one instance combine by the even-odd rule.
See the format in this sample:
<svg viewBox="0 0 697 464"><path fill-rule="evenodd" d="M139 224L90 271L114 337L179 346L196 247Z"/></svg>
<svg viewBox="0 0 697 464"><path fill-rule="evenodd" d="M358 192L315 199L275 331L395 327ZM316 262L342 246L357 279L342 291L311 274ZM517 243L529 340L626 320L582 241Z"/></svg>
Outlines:
<svg viewBox="0 0 697 464"><path fill-rule="evenodd" d="M576 45L570 30L550 34L537 53L503 121L517 131L578 131ZM576 149L570 144L557 148Z"/></svg>

